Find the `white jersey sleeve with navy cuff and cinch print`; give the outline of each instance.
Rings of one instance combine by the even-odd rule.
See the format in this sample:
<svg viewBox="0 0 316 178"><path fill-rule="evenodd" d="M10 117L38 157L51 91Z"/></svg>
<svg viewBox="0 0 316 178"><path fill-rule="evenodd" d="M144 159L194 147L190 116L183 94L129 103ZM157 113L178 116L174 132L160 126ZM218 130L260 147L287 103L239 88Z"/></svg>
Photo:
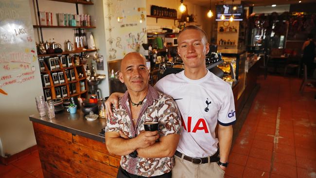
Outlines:
<svg viewBox="0 0 316 178"><path fill-rule="evenodd" d="M221 108L218 112L218 124L223 126L233 125L236 122L236 111L235 111L235 103L234 96L230 86L227 90Z"/></svg>

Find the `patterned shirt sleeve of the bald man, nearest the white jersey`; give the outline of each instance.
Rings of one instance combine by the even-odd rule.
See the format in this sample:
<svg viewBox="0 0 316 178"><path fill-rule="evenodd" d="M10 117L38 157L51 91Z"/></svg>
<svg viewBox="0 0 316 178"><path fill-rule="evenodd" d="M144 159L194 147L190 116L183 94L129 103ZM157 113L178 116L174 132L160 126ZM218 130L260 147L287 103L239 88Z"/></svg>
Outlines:
<svg viewBox="0 0 316 178"><path fill-rule="evenodd" d="M164 99L160 101L160 109L158 111L159 135L161 137L170 134L180 134L181 119L176 102L171 97L164 96Z"/></svg>

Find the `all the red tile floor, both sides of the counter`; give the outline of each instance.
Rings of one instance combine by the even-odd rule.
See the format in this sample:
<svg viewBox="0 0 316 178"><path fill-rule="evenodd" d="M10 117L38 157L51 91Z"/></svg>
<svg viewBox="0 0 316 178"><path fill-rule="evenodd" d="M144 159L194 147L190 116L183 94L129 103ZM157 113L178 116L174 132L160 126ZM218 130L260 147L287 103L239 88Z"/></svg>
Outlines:
<svg viewBox="0 0 316 178"><path fill-rule="evenodd" d="M298 78L269 75L258 82L225 178L316 178L316 89L299 94ZM43 177L37 151L0 164L0 178L35 177Z"/></svg>

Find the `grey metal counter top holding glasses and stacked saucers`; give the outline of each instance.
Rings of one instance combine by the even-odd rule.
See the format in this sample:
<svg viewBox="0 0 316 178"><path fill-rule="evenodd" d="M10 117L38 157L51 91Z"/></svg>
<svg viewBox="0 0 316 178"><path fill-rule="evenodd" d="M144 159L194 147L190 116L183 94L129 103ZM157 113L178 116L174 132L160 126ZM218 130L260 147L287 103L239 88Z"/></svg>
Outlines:
<svg viewBox="0 0 316 178"><path fill-rule="evenodd" d="M38 114L31 115L29 118L30 121L35 123L51 126L95 141L105 142L105 138L100 136L99 132L102 128L105 128L106 119L98 118L94 121L87 121L80 109L77 109L74 114L64 110L61 113L56 113L53 119L48 119L47 116L40 117Z"/></svg>

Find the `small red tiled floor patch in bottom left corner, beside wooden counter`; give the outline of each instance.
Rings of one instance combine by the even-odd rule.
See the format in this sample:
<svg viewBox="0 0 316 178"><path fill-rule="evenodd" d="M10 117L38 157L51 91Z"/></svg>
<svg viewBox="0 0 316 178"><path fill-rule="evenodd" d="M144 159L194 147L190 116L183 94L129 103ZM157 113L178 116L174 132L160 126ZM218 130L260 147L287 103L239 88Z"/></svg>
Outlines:
<svg viewBox="0 0 316 178"><path fill-rule="evenodd" d="M36 150L5 166L0 164L0 178L44 178Z"/></svg>

